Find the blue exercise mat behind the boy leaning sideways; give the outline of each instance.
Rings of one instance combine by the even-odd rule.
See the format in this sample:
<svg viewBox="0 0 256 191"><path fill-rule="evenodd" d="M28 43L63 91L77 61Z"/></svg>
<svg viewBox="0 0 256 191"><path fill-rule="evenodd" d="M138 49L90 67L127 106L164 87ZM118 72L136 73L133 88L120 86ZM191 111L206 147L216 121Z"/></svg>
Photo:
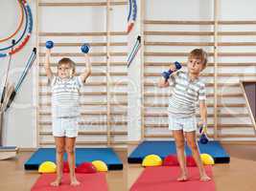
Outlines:
<svg viewBox="0 0 256 191"><path fill-rule="evenodd" d="M207 144L198 142L200 153L207 153L213 157L215 163L228 163L230 161L229 155L221 146L220 141L209 141ZM191 150L186 145L186 155L191 156ZM175 141L160 141L160 140L146 140L138 145L138 147L129 155L129 163L141 163L148 155L158 155L164 159L168 155L175 155Z"/></svg>

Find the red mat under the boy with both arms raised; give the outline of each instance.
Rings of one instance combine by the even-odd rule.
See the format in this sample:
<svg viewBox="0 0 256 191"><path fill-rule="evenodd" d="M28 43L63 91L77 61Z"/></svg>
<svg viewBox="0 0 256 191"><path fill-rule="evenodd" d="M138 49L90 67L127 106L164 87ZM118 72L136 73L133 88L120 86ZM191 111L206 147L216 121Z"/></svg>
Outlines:
<svg viewBox="0 0 256 191"><path fill-rule="evenodd" d="M61 184L58 187L51 186L50 183L56 179L56 174L42 174L38 180L36 180L32 191L106 191L107 183L105 180L105 173L95 174L76 174L77 179L81 182L79 186L71 186L69 174L64 173Z"/></svg>

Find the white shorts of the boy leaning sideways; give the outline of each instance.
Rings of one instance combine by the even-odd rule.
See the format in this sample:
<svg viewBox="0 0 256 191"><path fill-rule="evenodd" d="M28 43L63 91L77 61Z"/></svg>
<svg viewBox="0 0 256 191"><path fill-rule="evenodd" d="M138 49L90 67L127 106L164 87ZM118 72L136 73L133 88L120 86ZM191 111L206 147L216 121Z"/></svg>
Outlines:
<svg viewBox="0 0 256 191"><path fill-rule="evenodd" d="M175 117L169 114L169 129L170 130L183 130L183 132L197 131L198 123L197 117Z"/></svg>

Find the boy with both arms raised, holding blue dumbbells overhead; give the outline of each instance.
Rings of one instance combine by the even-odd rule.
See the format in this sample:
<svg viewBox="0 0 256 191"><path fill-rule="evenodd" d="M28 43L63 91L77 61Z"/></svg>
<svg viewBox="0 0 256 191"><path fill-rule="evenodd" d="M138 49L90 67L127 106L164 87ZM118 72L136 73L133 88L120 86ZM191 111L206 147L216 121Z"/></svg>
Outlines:
<svg viewBox="0 0 256 191"><path fill-rule="evenodd" d="M46 42L46 55L44 69L52 87L52 126L56 143L57 178L51 185L58 186L62 178L63 155L67 153L70 171L70 184L79 185L75 175L75 144L78 136L78 118L80 116L79 101L80 89L87 77L91 74L91 64L88 56L89 47L83 45L85 70L81 75L75 76L75 63L70 58L62 58L58 61L58 74L53 74L50 67L52 41Z"/></svg>

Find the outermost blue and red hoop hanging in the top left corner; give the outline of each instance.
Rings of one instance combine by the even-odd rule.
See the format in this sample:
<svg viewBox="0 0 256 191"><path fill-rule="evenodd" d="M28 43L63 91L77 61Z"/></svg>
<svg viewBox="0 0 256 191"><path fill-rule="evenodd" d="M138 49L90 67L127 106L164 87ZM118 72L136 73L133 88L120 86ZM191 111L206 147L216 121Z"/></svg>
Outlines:
<svg viewBox="0 0 256 191"><path fill-rule="evenodd" d="M26 0L23 0L21 1L22 3L22 8L23 10L25 11L25 14L26 14L26 25L25 25L25 29L24 31L22 32L21 36L19 37L19 39L14 43L12 44L11 46L9 47L6 47L6 48L2 48L0 49L0 51L5 51L5 50L8 50L10 48L12 48L13 46L15 46L16 44L19 43L19 41L21 41L21 39L24 37L25 33L27 32L27 29L28 29L28 34L26 35L26 37L24 38L24 40L21 42L21 44L16 47L15 49L13 49L11 52L9 53L0 53L0 57L5 57L7 56L8 54L13 54L13 53L17 53L18 51L20 51L26 44L27 42L29 41L30 39L30 36L31 36L31 33L33 31L33 15L32 15L32 11L31 11L31 8L30 6L27 4ZM28 26L29 25L29 26Z"/></svg>

